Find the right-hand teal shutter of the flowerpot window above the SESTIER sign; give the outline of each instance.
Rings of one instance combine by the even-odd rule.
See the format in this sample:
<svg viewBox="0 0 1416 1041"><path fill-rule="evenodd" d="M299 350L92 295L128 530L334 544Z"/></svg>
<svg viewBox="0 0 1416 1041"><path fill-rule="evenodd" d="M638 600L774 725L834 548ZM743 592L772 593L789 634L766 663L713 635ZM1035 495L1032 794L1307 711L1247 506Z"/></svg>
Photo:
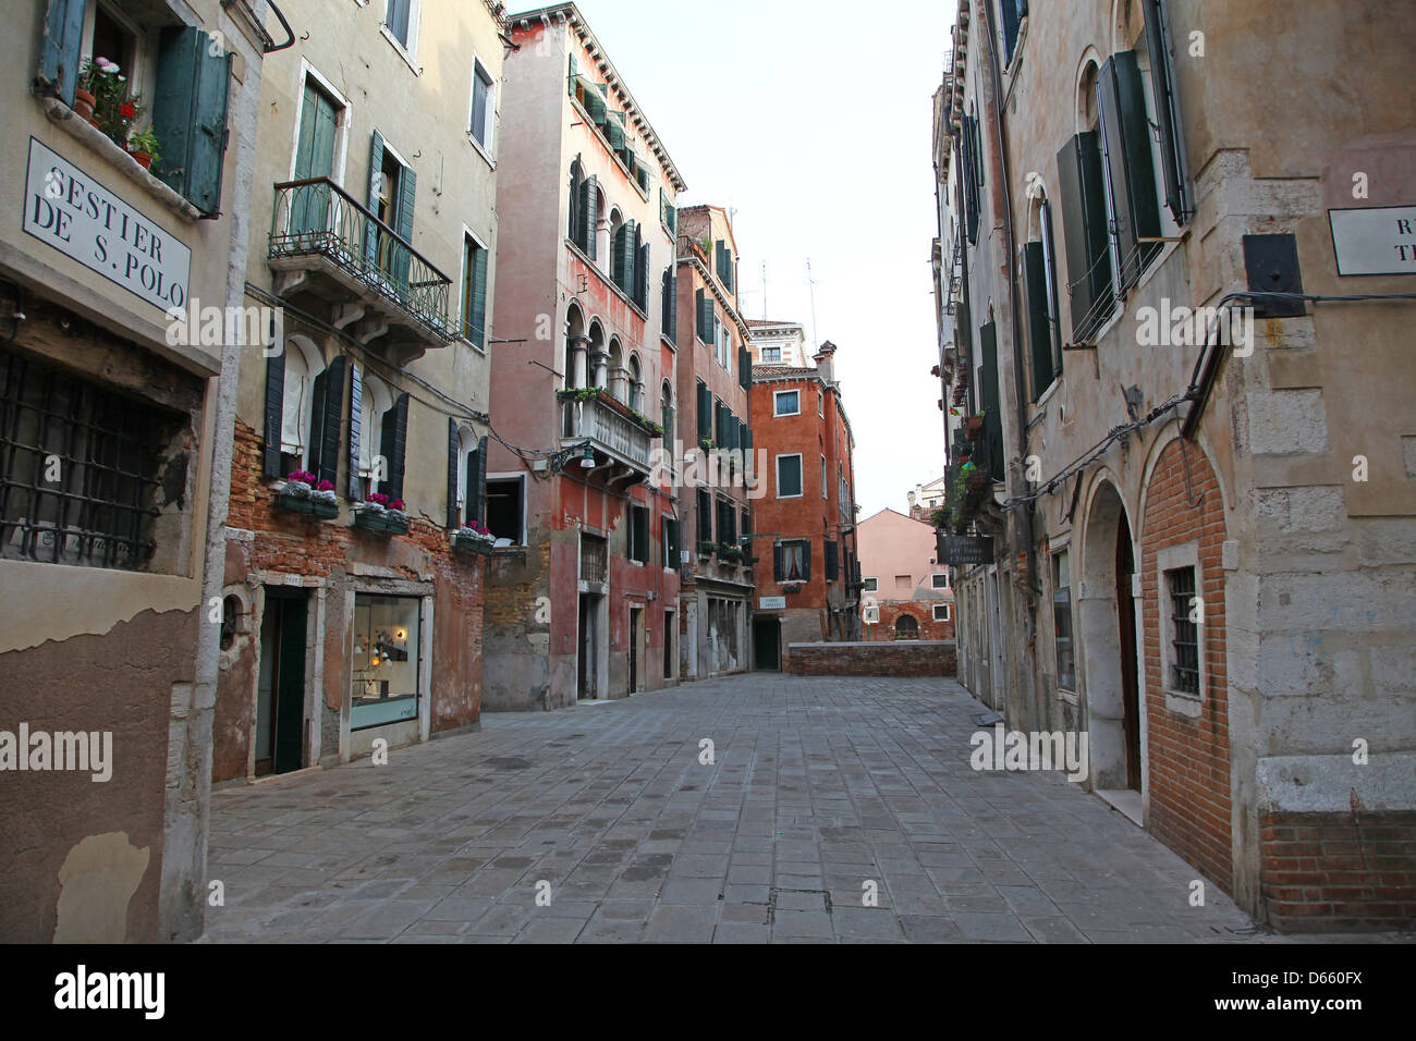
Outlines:
<svg viewBox="0 0 1416 1041"><path fill-rule="evenodd" d="M163 30L153 89L163 154L153 173L207 217L221 212L229 82L231 54L210 35L191 25Z"/></svg>

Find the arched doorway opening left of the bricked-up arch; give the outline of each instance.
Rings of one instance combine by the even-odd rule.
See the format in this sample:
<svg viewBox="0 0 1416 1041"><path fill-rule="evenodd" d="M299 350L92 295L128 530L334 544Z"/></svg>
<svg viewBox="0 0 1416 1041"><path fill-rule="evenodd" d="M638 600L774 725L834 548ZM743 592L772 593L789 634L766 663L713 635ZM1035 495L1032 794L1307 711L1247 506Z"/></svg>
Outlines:
<svg viewBox="0 0 1416 1041"><path fill-rule="evenodd" d="M1078 598L1086 676L1087 752L1097 792L1141 790L1140 687L1136 669L1136 574L1131 525L1120 493L1103 480L1087 510ZM1140 802L1134 800L1134 817ZM1129 807L1131 809L1131 807Z"/></svg>

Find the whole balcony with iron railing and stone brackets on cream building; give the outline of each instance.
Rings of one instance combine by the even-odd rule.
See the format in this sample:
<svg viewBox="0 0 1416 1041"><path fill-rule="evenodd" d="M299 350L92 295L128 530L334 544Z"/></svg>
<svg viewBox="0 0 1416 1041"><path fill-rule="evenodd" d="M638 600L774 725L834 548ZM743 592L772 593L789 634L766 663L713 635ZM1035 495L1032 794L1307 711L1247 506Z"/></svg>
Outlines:
<svg viewBox="0 0 1416 1041"><path fill-rule="evenodd" d="M456 336L452 279L327 177L275 186L276 295L405 365Z"/></svg>

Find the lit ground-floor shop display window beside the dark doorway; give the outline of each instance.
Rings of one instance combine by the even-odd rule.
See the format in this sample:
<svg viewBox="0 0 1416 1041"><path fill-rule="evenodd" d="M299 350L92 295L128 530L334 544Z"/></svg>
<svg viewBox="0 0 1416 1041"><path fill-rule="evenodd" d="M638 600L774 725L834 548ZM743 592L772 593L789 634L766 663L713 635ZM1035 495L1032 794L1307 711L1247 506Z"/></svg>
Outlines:
<svg viewBox="0 0 1416 1041"><path fill-rule="evenodd" d="M422 599L354 593L350 729L418 718Z"/></svg>

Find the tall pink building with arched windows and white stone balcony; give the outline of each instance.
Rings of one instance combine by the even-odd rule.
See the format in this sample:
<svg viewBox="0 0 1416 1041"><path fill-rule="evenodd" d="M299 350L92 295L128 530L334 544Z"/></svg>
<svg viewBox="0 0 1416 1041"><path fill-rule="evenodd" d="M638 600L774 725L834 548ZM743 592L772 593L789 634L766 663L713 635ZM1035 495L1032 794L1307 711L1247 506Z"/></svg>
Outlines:
<svg viewBox="0 0 1416 1041"><path fill-rule="evenodd" d="M515 518L486 592L487 710L677 674L673 160L575 4L508 17L487 459ZM514 446L514 448L513 448Z"/></svg>

